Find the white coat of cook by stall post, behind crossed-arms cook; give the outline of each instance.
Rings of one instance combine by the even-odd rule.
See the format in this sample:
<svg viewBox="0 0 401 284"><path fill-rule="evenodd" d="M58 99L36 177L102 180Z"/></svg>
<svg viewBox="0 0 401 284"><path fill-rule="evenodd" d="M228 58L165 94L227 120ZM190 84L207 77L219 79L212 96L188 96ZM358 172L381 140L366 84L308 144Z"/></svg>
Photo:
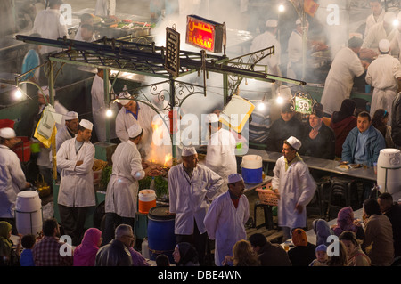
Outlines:
<svg viewBox="0 0 401 284"><path fill-rule="evenodd" d="M111 92L111 84L109 84L109 92ZM107 106L104 102L104 81L97 74L94 76L94 82L91 89L92 95L92 116L94 117L94 130L99 142L106 141L106 110ZM115 103L110 104L110 109L116 114L119 107ZM117 138L116 125L113 119L110 119L110 139Z"/></svg>

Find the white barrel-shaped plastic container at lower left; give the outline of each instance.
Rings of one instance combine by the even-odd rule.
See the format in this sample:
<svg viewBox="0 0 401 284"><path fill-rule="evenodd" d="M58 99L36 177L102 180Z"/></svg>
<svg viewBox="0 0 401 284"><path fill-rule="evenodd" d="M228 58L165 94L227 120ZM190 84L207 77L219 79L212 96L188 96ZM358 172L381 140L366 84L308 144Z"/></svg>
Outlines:
<svg viewBox="0 0 401 284"><path fill-rule="evenodd" d="M37 191L22 191L17 195L15 223L18 233L36 235L42 231L42 201Z"/></svg>

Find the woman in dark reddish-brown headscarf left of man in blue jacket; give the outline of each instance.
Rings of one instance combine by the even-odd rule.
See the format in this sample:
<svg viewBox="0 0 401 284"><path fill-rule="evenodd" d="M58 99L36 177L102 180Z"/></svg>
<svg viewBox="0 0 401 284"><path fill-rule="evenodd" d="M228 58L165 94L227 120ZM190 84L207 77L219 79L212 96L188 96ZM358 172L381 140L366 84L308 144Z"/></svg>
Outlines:
<svg viewBox="0 0 401 284"><path fill-rule="evenodd" d="M344 144L348 133L356 127L356 102L350 99L342 101L340 111L334 111L331 116L330 127L336 135L335 154L341 157L342 144Z"/></svg>

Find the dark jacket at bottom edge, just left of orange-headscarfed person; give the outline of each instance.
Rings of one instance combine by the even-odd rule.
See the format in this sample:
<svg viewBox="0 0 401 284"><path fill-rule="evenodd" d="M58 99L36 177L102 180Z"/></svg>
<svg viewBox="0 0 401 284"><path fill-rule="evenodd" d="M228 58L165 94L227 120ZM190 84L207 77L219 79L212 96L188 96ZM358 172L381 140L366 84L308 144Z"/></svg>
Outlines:
<svg viewBox="0 0 401 284"><path fill-rule="evenodd" d="M277 244L267 242L258 251L261 266L291 266L287 252Z"/></svg>

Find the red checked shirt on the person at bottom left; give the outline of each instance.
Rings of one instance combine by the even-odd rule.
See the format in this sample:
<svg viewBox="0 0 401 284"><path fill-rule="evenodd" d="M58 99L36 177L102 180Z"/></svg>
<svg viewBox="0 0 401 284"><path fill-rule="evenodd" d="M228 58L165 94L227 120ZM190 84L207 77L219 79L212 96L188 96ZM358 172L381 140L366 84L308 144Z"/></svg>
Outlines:
<svg viewBox="0 0 401 284"><path fill-rule="evenodd" d="M45 236L37 241L33 247L35 266L72 266L72 256L60 254L60 247L63 245L65 244L56 237Z"/></svg>

